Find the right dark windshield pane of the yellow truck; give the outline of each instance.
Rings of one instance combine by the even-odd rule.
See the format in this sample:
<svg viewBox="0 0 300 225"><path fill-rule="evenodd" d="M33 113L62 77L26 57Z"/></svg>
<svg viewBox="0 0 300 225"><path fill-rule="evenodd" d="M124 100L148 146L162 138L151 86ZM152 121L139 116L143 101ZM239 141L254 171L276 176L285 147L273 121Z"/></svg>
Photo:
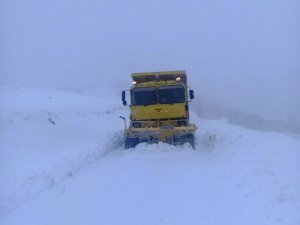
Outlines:
<svg viewBox="0 0 300 225"><path fill-rule="evenodd" d="M159 87L158 96L160 104L174 104L185 102L185 90L181 85Z"/></svg>

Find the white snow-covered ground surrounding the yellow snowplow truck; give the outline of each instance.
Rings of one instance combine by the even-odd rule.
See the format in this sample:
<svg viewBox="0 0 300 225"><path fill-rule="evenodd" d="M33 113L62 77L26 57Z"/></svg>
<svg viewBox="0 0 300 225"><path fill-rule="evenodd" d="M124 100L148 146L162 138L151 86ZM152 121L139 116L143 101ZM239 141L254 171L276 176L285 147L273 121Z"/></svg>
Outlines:
<svg viewBox="0 0 300 225"><path fill-rule="evenodd" d="M119 96L0 88L0 224L299 225L300 140L201 119L122 149Z"/></svg>

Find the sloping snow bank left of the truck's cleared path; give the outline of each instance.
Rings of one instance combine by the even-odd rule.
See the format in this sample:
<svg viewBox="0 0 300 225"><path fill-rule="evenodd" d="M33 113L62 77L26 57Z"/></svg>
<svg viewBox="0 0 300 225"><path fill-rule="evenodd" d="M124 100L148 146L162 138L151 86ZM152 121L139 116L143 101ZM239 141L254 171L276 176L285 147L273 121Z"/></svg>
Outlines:
<svg viewBox="0 0 300 225"><path fill-rule="evenodd" d="M97 161L122 129L117 98L1 87L0 103L0 215Z"/></svg>

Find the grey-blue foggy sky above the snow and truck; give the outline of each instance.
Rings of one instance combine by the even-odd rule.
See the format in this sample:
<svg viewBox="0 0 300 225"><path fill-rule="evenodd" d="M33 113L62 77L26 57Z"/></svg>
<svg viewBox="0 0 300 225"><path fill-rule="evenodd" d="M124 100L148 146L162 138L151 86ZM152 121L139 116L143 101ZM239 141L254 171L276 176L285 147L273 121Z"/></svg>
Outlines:
<svg viewBox="0 0 300 225"><path fill-rule="evenodd" d="M1 85L119 91L184 69L200 106L300 116L299 0L2 0L0 28Z"/></svg>

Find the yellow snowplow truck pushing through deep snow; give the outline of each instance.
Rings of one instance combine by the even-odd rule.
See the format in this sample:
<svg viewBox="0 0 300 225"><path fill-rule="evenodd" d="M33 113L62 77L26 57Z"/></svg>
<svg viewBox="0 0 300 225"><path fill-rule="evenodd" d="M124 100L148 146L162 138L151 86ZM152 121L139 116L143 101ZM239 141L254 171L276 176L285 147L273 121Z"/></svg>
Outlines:
<svg viewBox="0 0 300 225"><path fill-rule="evenodd" d="M123 105L130 93L130 124L125 121L125 149L142 142L171 145L190 143L195 148L195 124L190 124L189 102L194 91L186 71L132 73L132 87L122 91ZM121 117L125 120L124 117Z"/></svg>

